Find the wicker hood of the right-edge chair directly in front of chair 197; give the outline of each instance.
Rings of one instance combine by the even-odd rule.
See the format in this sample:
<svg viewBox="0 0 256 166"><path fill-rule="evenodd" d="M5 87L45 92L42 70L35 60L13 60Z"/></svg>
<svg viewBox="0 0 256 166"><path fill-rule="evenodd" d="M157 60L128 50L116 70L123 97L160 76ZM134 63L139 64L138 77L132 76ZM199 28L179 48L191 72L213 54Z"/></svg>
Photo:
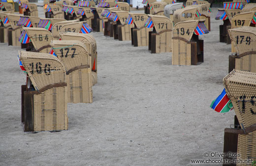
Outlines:
<svg viewBox="0 0 256 166"><path fill-rule="evenodd" d="M256 28L240 27L228 29L230 39L233 41L238 57L256 54Z"/></svg>

